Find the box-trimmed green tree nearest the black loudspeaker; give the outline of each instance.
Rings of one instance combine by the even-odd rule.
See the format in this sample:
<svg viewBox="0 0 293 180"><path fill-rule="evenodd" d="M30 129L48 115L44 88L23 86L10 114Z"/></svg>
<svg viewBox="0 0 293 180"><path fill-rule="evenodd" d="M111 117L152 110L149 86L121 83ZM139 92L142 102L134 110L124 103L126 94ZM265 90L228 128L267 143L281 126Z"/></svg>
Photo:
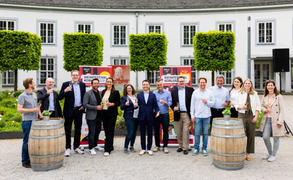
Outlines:
<svg viewBox="0 0 293 180"><path fill-rule="evenodd" d="M230 72L235 65L235 35L233 32L198 32L193 39L194 68L197 71Z"/></svg>

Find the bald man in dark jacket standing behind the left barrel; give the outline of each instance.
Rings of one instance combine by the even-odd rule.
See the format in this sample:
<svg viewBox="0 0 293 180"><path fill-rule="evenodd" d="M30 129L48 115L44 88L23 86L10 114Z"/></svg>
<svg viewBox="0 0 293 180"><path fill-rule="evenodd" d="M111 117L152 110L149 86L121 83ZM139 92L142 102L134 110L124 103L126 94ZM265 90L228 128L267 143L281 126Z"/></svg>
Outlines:
<svg viewBox="0 0 293 180"><path fill-rule="evenodd" d="M50 118L63 118L62 109L58 100L58 93L53 90L54 80L48 78L45 82L46 86L37 91L38 102L42 100L42 106L40 107L41 113L44 110L50 111Z"/></svg>

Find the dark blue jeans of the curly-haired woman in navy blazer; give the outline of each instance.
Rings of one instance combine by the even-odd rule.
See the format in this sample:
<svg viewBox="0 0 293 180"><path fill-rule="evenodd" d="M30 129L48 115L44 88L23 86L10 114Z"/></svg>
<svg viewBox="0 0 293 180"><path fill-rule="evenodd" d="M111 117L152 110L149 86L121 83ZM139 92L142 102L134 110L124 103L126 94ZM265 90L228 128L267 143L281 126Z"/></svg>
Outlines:
<svg viewBox="0 0 293 180"><path fill-rule="evenodd" d="M137 118L125 119L126 127L127 127L127 134L125 137L124 148L128 149L128 144L130 142L130 147L133 147L135 138L136 138L136 131L138 128L138 120Z"/></svg>

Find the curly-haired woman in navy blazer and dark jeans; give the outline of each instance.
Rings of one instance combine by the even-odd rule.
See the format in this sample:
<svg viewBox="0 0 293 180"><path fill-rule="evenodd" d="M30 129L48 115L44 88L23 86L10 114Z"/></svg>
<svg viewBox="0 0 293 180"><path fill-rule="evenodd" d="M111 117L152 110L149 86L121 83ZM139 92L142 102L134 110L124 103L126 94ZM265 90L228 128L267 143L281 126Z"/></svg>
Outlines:
<svg viewBox="0 0 293 180"><path fill-rule="evenodd" d="M136 138L136 131L138 128L138 103L137 97L134 96L135 89L131 84L127 84L123 90L123 97L121 99L120 109L124 110L123 118L125 119L127 134L124 142L124 153L129 154L128 145L130 142L129 150L136 152L133 145Z"/></svg>

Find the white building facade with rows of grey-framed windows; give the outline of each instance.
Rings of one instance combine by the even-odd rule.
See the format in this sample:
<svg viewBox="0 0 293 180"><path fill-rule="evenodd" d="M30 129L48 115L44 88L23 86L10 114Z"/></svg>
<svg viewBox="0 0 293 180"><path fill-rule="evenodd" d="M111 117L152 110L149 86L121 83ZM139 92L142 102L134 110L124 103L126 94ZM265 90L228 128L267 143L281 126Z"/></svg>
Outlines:
<svg viewBox="0 0 293 180"><path fill-rule="evenodd" d="M167 65L177 66L193 65L192 40L196 32L232 31L236 38L236 61L232 72L220 72L226 77L225 85L230 87L236 76L240 76L243 80L251 77L258 91L263 91L266 80L275 80L277 84L279 83L279 76L272 72L272 49L289 48L290 59L293 59L292 1L278 3L278 0L274 0L274 3L262 5L241 3L225 5L221 2L222 5L189 8L170 7L165 5L164 1L161 4L159 1L158 7L144 5L130 7L132 5L130 1L129 7L127 5L123 7L123 4L117 5L114 1L113 4L108 4L108 7L86 4L76 6L74 3L30 3L30 0L24 0L25 2L22 3L18 3L19 0L9 1L8 3L0 0L0 29L26 31L42 37L42 58L41 68L38 71L19 71L18 77L13 77L13 72L2 72L3 89L13 89L14 78L18 78L18 89L23 89L22 81L25 78L34 78L37 89L44 86L48 77L55 80L56 89L60 89L64 81L70 80L70 72L63 69L63 33L65 32L101 34L104 38L103 66L129 65L128 35L165 32L168 40ZM248 17L251 17L250 69L248 69ZM289 93L293 89L291 60L290 66L290 72L281 74L282 90ZM155 84L158 75L158 72L151 73L152 84ZM138 82L139 89L142 89L141 82L146 79L146 72L138 72L137 80L135 72L130 72L130 77L130 83L135 87ZM199 77L206 77L208 86L211 86L211 72L194 70L193 87L198 87Z"/></svg>

